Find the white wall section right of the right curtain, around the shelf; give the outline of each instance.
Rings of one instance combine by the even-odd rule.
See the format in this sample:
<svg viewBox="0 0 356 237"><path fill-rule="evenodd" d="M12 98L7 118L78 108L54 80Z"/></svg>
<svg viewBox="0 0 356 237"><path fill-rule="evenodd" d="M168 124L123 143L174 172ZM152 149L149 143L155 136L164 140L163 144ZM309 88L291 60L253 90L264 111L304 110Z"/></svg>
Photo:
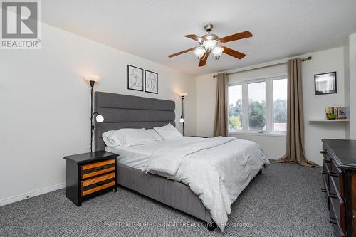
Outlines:
<svg viewBox="0 0 356 237"><path fill-rule="evenodd" d="M305 56L313 56L312 60L303 63L303 105L305 121L305 154L313 162L323 164L320 155L321 139L334 138L345 139L346 123L315 123L310 119L325 118L325 107L340 105L345 106L344 86L344 48L332 48L326 51L308 53ZM337 93L328 95L314 94L314 75L336 71Z"/></svg>

